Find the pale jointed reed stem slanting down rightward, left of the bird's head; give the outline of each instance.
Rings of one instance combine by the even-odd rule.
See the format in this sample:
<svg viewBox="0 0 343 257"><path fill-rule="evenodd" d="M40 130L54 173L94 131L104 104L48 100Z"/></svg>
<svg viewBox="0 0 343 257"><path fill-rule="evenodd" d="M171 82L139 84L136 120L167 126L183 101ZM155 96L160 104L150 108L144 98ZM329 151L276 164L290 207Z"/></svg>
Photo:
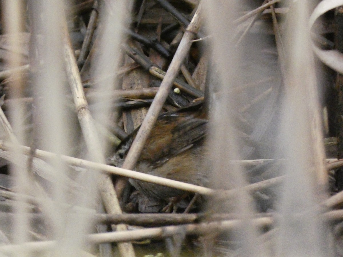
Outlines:
<svg viewBox="0 0 343 257"><path fill-rule="evenodd" d="M105 158L102 152L103 147L100 145L94 121L88 109L88 103L84 95L80 72L76 63L74 51L68 33L67 20L64 15L62 17L62 37L67 78L73 94L77 116L80 122L84 140L87 145L87 149L89 151L89 156L91 156L93 160L98 163L105 163ZM111 214L121 214L122 211L119 205L119 201L109 175L100 174L97 184L100 189L100 195L104 202L106 211ZM125 231L126 229L126 225L123 224L119 224L116 226L117 231ZM131 243L118 244L118 248L121 256L123 257L135 256Z"/></svg>

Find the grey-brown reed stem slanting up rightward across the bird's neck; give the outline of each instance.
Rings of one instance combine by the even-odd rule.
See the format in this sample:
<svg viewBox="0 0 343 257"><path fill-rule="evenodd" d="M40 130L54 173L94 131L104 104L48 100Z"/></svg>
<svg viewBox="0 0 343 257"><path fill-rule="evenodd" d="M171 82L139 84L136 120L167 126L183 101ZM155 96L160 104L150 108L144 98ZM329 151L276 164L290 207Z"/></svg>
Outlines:
<svg viewBox="0 0 343 257"><path fill-rule="evenodd" d="M199 5L196 13L193 16L191 23L187 27L185 34L182 37L180 45L177 48L177 51L173 57L173 60L171 61L169 65L169 68L161 83L161 86L159 86L159 90L154 98L154 101L152 102L149 108L149 111L147 112L143 120L143 123L140 126L140 129L138 130L138 133L132 143L132 146L122 166L125 169L133 169L137 163L137 160L139 158L139 155L141 154L141 151L144 147L146 139L151 133L151 130L157 120L159 112L161 111L167 99L167 96L169 94L169 91L171 87L173 86L173 82L180 71L180 67L184 59L186 58L186 55L189 52L189 49L192 45L191 40L194 38L198 30L200 29L200 26L202 23L200 10L201 10L201 4ZM126 182L127 182L127 179L124 179L124 178L118 179L116 183L116 191L117 191L118 196L121 195Z"/></svg>

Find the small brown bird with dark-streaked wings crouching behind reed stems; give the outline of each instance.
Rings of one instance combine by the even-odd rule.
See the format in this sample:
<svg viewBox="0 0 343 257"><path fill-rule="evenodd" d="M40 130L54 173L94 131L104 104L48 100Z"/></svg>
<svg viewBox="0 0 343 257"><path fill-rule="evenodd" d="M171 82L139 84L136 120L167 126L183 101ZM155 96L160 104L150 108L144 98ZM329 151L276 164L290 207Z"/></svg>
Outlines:
<svg viewBox="0 0 343 257"><path fill-rule="evenodd" d="M194 118L189 113L161 115L142 150L135 171L206 186L209 181L209 149L205 143L207 120ZM118 146L108 164L121 167L130 149L135 130ZM179 196L180 189L130 179L140 192L155 199Z"/></svg>

